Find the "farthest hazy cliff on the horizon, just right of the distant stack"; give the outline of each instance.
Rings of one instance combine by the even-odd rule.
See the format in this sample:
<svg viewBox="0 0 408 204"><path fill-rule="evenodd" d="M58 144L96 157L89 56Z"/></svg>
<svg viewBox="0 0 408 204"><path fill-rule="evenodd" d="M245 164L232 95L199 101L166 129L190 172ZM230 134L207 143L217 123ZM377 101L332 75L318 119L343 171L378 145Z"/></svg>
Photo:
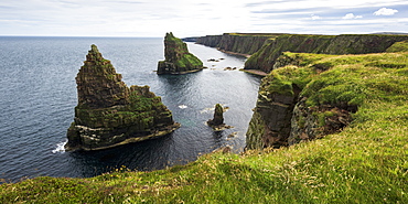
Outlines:
<svg viewBox="0 0 408 204"><path fill-rule="evenodd" d="M279 33L224 33L223 35L206 35L198 37L196 43L217 47L224 52L251 55L262 47L268 39L275 39Z"/></svg>

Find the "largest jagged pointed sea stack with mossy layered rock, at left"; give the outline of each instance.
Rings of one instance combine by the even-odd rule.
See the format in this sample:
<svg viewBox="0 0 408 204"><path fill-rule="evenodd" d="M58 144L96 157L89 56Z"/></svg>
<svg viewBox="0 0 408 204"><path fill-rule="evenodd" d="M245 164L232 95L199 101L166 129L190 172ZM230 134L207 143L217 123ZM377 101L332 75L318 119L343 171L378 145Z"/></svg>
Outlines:
<svg viewBox="0 0 408 204"><path fill-rule="evenodd" d="M149 86L121 82L110 61L92 45L76 76L78 105L66 150L99 150L165 136L180 124Z"/></svg>

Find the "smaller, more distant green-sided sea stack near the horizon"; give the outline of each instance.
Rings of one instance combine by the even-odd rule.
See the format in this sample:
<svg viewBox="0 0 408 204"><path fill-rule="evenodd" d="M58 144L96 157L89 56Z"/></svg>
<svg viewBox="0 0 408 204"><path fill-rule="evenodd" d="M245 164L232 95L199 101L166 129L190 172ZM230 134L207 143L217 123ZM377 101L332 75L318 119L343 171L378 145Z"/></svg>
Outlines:
<svg viewBox="0 0 408 204"><path fill-rule="evenodd" d="M187 74L203 69L203 62L191 54L187 45L173 33L165 33L164 61L158 64L158 74Z"/></svg>

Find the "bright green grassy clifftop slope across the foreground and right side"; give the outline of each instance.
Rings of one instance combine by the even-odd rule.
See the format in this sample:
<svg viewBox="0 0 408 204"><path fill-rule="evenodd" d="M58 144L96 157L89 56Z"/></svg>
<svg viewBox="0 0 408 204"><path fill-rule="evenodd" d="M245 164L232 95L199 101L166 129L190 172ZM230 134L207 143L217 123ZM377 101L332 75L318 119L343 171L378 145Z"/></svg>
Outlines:
<svg viewBox="0 0 408 204"><path fill-rule="evenodd" d="M342 84L358 90L342 96L359 105L350 127L290 148L211 153L154 172L122 168L89 179L2 184L0 203L408 203L408 53L287 54L304 61L273 72L292 82L302 73L312 77L298 82L308 83L304 95L314 87L320 99L335 99L326 90ZM315 64L331 68L311 76L305 71Z"/></svg>

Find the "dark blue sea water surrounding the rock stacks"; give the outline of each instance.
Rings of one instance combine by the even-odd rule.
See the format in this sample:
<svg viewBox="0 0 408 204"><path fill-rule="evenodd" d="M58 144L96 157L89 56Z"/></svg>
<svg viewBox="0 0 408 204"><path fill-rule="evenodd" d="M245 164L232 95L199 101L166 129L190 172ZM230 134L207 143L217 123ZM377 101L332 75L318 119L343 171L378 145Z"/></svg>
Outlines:
<svg viewBox="0 0 408 204"><path fill-rule="evenodd" d="M155 140L64 152L61 147L77 104L75 76L90 44L112 62L128 86L149 85L182 127ZM0 179L94 176L121 165L149 171L185 164L224 146L241 151L260 79L224 71L243 67L243 57L192 43L189 49L208 69L158 76L153 71L164 58L162 39L0 37ZM229 107L225 122L235 128L214 132L205 126L217 103ZM233 132L237 136L228 138Z"/></svg>

